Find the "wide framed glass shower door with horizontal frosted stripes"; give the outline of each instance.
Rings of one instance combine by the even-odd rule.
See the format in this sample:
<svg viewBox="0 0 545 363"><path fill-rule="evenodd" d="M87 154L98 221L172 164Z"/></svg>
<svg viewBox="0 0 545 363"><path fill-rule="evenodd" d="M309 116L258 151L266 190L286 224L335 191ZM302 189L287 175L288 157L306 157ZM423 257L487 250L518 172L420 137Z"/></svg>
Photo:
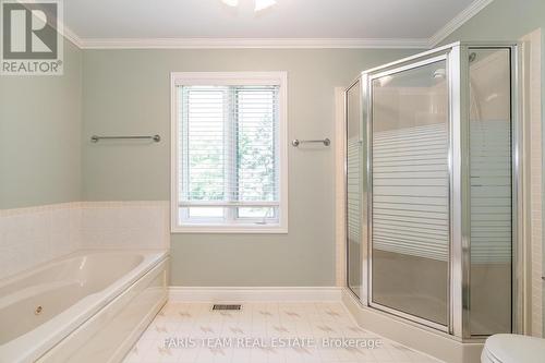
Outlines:
<svg viewBox="0 0 545 363"><path fill-rule="evenodd" d="M446 57L370 77L370 304L446 329L449 116Z"/></svg>

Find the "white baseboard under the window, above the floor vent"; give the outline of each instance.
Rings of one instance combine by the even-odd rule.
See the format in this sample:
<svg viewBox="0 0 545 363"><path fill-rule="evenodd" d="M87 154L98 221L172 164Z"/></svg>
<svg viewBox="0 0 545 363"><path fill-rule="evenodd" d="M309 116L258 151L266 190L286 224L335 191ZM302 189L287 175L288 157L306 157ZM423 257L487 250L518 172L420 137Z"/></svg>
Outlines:
<svg viewBox="0 0 545 363"><path fill-rule="evenodd" d="M338 287L170 287L170 302L341 301Z"/></svg>

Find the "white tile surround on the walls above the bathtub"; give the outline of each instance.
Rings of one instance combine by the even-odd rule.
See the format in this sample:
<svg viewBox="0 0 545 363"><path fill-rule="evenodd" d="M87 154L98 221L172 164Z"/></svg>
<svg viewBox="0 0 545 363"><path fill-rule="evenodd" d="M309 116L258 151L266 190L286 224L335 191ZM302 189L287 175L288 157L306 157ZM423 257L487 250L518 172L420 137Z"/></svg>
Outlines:
<svg viewBox="0 0 545 363"><path fill-rule="evenodd" d="M0 278L81 249L168 249L168 202L74 202L0 210Z"/></svg>

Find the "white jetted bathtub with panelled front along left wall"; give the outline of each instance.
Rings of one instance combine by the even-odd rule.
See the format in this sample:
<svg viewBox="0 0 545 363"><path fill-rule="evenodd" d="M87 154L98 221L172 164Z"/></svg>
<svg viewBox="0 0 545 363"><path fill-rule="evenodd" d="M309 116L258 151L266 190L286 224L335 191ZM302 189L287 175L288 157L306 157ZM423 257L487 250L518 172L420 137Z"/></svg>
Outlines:
<svg viewBox="0 0 545 363"><path fill-rule="evenodd" d="M119 362L167 300L167 264L82 251L0 280L0 363Z"/></svg>

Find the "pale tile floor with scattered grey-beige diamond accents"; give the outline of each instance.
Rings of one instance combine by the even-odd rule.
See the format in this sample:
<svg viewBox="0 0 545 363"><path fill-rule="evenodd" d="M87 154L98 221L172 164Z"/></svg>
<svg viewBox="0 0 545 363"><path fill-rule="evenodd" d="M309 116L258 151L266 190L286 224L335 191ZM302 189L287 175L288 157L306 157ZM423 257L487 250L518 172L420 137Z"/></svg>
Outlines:
<svg viewBox="0 0 545 363"><path fill-rule="evenodd" d="M168 303L124 363L439 362L358 327L341 303L245 303L241 312L210 307Z"/></svg>

